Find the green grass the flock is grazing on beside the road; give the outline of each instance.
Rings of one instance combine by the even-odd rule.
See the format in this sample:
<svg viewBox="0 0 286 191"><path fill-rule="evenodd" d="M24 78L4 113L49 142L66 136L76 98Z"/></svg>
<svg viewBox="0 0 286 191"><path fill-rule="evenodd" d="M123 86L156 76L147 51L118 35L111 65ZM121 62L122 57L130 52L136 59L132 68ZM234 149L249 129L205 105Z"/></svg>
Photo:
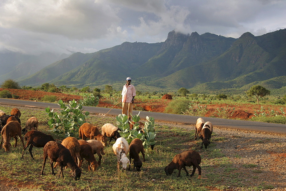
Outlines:
<svg viewBox="0 0 286 191"><path fill-rule="evenodd" d="M12 108L0 107L7 112ZM35 112L29 108L21 109L21 126L30 117L37 117L39 120L39 130L51 134L47 126L48 116L44 110ZM90 116L87 121L101 127L109 122L115 124L115 118ZM233 164L233 162L223 154L222 150L217 148L217 142L224 142L224 137L214 134L214 140L208 146L208 149L200 149L201 140L194 141L194 130L188 130L180 127L167 125L156 125L157 133L156 145L154 150L148 150L145 156L146 162L143 162L142 171L117 171L117 159L112 151L112 144L104 148L106 153L102 157L102 164L96 172L88 171L87 162L83 163L82 176L79 181L75 181L69 169L64 171L65 178L58 178L50 174L49 161L44 168L44 175L41 176L43 163L43 148L33 148L32 152L35 160L32 160L28 149L25 151L24 159L21 160L21 143L16 148L11 147L9 152L0 150L0 169L1 179L8 179L10 182L18 184L19 189L41 189L41 190L209 190L217 188L221 190L231 188L261 190L271 189L273 186L265 182L252 183L245 181L245 177L250 179L253 174L244 174L239 171L246 168L252 168L252 173L259 176L261 170L255 170L258 165L254 164ZM194 129L194 128L192 128ZM52 134L56 139L59 136ZM13 145L14 140L11 140ZM166 176L164 167L167 166L172 158L185 150L196 150L202 157L200 164L202 176L204 179L197 179L198 171L193 177L186 176L182 170L181 177L176 177L178 170L170 176ZM128 155L129 156L129 155ZM98 156L95 155L97 158ZM239 157L239 156L237 156ZM140 158L142 156L140 154ZM186 167L191 173L192 167ZM255 169L254 169L255 168ZM133 169L133 165L131 166ZM59 168L56 168L57 173ZM259 178L256 178L259 179ZM30 185L30 186L27 186Z"/></svg>

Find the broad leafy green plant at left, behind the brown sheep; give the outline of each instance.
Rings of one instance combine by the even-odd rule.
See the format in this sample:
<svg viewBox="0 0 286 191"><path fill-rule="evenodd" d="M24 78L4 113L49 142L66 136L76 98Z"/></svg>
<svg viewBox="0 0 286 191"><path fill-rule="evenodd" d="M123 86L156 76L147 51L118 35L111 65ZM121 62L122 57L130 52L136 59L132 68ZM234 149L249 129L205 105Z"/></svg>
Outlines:
<svg viewBox="0 0 286 191"><path fill-rule="evenodd" d="M75 100L69 101L68 105L59 100L57 104L61 108L56 109L59 113L53 112L54 109L50 110L49 107L45 109L51 118L48 121L49 128L64 138L75 137L80 126L86 122L89 112L83 114L82 105Z"/></svg>

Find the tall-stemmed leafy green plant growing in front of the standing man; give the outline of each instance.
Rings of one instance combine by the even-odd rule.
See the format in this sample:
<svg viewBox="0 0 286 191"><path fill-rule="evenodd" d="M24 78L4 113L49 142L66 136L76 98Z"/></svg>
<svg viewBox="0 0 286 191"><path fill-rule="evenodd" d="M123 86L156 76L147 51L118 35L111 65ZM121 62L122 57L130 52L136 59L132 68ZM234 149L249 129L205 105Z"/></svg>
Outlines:
<svg viewBox="0 0 286 191"><path fill-rule="evenodd" d="M146 116L146 122L144 124L144 133L143 131L138 131L139 128L139 115L132 116L133 122L135 122L133 126L133 130L130 130L129 123L128 123L128 116L125 114L120 114L116 116L116 124L120 130L120 136L125 138L127 142L130 144L131 141L135 138L141 139L143 142L144 148L147 150L149 145L154 145L156 143L155 137L156 132L154 129L154 118Z"/></svg>

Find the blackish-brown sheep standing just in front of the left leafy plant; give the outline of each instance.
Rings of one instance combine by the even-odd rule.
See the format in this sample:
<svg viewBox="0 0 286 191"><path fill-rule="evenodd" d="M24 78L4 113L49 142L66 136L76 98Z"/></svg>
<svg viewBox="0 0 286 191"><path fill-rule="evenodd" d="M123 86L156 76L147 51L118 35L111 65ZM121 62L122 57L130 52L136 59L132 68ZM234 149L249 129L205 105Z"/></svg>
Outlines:
<svg viewBox="0 0 286 191"><path fill-rule="evenodd" d="M34 159L33 154L32 154L33 146L44 147L47 144L47 142L55 141L51 135L47 135L47 134L42 133L40 131L29 131L25 134L24 139L25 139L25 141L27 141L27 144L23 148L23 152L22 152L22 156L21 156L22 159L24 158L23 157L24 152L29 145L31 145L29 148L31 158Z"/></svg>

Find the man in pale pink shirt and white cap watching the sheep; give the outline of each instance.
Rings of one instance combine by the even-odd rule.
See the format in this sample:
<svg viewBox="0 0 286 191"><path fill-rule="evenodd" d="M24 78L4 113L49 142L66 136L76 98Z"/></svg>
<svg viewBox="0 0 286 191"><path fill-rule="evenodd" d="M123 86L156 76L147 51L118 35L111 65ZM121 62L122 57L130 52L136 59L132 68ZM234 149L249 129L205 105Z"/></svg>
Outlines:
<svg viewBox="0 0 286 191"><path fill-rule="evenodd" d="M134 85L131 85L130 77L126 78L126 84L123 86L121 95L122 95L122 115L123 114L128 115L128 120L131 120L136 90Z"/></svg>

